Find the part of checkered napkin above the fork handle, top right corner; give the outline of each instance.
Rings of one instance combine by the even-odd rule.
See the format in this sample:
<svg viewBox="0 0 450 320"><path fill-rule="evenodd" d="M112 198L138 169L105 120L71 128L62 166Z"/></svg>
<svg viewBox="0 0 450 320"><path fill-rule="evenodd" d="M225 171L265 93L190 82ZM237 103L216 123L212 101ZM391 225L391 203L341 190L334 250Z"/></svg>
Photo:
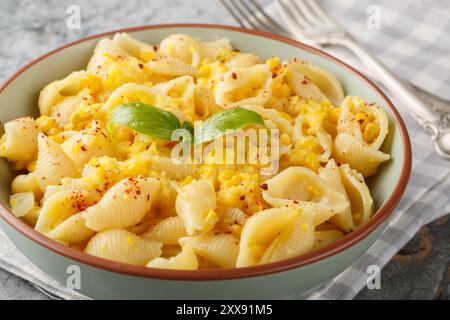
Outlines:
<svg viewBox="0 0 450 320"><path fill-rule="evenodd" d="M400 77L450 101L450 1L322 0L320 4ZM374 28L378 13L379 28Z"/></svg>

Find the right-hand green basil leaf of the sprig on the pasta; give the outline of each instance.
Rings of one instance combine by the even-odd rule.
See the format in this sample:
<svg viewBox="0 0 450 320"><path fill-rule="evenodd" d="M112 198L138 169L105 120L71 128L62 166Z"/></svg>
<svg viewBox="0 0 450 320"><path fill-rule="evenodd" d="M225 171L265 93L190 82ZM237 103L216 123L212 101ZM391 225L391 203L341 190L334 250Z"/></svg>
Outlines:
<svg viewBox="0 0 450 320"><path fill-rule="evenodd" d="M256 112L244 108L227 109L206 119L194 132L196 144L212 141L226 134L227 130L237 130L250 124L265 126L263 118Z"/></svg>

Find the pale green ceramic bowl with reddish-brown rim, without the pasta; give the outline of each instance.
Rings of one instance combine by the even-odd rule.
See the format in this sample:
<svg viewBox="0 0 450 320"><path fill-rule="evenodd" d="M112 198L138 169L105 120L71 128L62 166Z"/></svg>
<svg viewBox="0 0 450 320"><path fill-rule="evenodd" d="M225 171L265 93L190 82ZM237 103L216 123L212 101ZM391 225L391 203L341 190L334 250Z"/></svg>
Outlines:
<svg viewBox="0 0 450 320"><path fill-rule="evenodd" d="M153 25L111 31L73 42L37 58L0 87L0 121L37 116L39 91L48 83L84 69L100 38L128 32L148 43L158 43L173 33L187 33L203 40L229 38L233 47L263 58L300 57L333 72L347 94L362 96L388 114L389 135L382 150L391 160L368 180L376 213L370 221L332 245L310 254L256 267L229 270L178 271L149 269L103 260L69 249L36 232L16 218L9 208L8 163L0 161L0 226L14 245L37 267L80 293L98 299L260 299L301 296L338 275L373 244L385 229L402 197L411 171L411 146L399 113L360 72L307 45L274 34L220 25ZM74 267L75 266L75 267ZM80 281L74 281L73 276Z"/></svg>

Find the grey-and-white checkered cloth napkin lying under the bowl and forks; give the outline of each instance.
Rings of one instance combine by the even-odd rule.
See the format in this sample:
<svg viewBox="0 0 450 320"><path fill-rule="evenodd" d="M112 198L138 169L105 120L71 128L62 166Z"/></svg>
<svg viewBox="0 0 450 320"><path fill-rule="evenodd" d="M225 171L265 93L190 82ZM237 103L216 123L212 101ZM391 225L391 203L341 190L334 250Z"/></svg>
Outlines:
<svg viewBox="0 0 450 320"><path fill-rule="evenodd" d="M441 9L432 10L416 1L402 1L401 8L398 7L400 2L397 4L394 1L380 1L384 19L382 29L379 32L368 32L360 23L352 22L352 19L365 19L365 8L374 2L327 0L323 1L323 5L333 12L338 20L342 20L340 22L345 23L349 30L358 27L363 30L355 36L403 77L412 79L417 86L450 100L449 72L445 72L450 68L450 41L439 41L436 46L432 43L438 41L438 38L444 39L445 33L447 37L450 34L450 23L444 18L444 11L449 16L450 5L444 5L442 1ZM433 5L435 3L438 1L433 1ZM396 12L401 12L402 15ZM417 26L420 21L423 24ZM408 34L400 29L408 32L414 29L414 32ZM405 61L408 62L407 66L402 65ZM434 71L436 68L439 72ZM287 299L353 298L366 285L369 278L366 271L370 265L382 268L420 227L450 212L449 162L436 154L429 137L409 116L407 109L396 101L386 88L385 92L399 109L410 135L414 137L413 170L406 193L387 230L361 258L306 297L294 295L286 297ZM53 298L86 299L36 268L15 249L1 230L0 268L30 281Z"/></svg>

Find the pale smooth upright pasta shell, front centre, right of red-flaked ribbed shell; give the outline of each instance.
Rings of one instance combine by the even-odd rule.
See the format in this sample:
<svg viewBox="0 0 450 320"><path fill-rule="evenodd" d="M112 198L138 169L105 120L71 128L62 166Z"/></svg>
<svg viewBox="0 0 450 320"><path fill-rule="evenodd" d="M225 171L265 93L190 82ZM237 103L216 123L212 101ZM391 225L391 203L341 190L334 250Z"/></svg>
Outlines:
<svg viewBox="0 0 450 320"><path fill-rule="evenodd" d="M194 180L183 186L178 191L175 208L188 235L207 232L218 220L216 192L209 180Z"/></svg>

